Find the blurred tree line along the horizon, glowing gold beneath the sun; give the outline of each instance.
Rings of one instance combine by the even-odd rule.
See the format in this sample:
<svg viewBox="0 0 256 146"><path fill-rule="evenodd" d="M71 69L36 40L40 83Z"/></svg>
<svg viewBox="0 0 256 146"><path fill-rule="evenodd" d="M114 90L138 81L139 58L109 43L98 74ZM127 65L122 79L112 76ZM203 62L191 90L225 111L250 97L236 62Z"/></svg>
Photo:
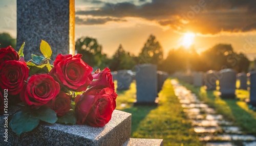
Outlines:
<svg viewBox="0 0 256 146"><path fill-rule="evenodd" d="M9 34L0 34L1 47L8 45L16 47L16 40ZM217 44L208 48L201 54L196 48L185 49L180 47L168 52L163 58L163 48L154 35L150 35L142 47L138 56L124 50L120 44L115 54L108 57L102 53L102 45L97 39L81 37L76 40L75 50L83 55L82 60L94 67L104 68L108 66L112 71L131 69L137 64L151 63L158 67L158 70L172 74L175 71L185 71L187 68L194 71L207 71L210 69L221 70L233 68L238 72L249 71L250 61L243 53L234 52L231 44Z"/></svg>

